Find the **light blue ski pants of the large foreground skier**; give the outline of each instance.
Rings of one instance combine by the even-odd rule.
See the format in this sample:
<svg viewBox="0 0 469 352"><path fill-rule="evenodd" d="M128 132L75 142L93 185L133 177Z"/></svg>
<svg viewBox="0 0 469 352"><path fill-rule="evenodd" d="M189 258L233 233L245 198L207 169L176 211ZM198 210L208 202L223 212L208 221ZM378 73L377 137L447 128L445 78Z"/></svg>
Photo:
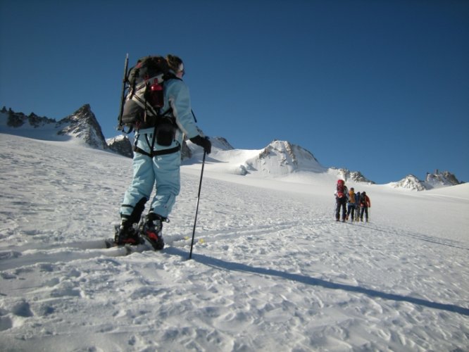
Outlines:
<svg viewBox="0 0 469 352"><path fill-rule="evenodd" d="M168 218L180 192L181 153L161 156L146 156L135 153L133 159L134 177L124 194L120 216L139 222L144 203L150 199L153 187L156 195L151 201L149 211Z"/></svg>

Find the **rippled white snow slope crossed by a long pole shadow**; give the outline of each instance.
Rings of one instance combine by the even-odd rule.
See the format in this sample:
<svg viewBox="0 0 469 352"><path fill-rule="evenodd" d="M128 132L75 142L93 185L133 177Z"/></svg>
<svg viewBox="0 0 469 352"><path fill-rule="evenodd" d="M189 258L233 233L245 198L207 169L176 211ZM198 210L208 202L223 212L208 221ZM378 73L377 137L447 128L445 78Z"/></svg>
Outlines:
<svg viewBox="0 0 469 352"><path fill-rule="evenodd" d="M240 176L225 153L206 161L192 260L200 163L165 249L123 256L103 239L130 158L8 134L0 151L0 351L469 350L469 184L348 183L372 208L344 224L335 175Z"/></svg>

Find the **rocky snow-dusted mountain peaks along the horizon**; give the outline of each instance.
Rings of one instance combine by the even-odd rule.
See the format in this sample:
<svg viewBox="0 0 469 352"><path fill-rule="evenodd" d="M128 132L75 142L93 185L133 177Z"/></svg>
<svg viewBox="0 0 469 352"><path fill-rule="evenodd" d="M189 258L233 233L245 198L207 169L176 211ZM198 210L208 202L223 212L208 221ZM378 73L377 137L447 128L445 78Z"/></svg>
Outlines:
<svg viewBox="0 0 469 352"><path fill-rule="evenodd" d="M0 111L0 132L19 134L24 137L45 140L73 140L94 149L108 150L132 158L132 141L127 135L105 139L101 126L89 104L85 104L75 113L56 121L51 118L39 117L34 113L25 115L4 107ZM360 171L345 168L325 168L301 146L286 141L274 140L259 150L234 149L223 137L210 137L213 152L210 160L219 164L220 170L237 175L256 174L262 177L282 177L296 172L313 172L329 174L342 178L347 182L375 184L368 180ZM182 160L191 162L197 159L199 147L185 141L182 146ZM391 182L395 188L423 191L435 187L448 187L461 184L451 172L436 170L427 173L425 181L414 175L407 175L398 182Z"/></svg>

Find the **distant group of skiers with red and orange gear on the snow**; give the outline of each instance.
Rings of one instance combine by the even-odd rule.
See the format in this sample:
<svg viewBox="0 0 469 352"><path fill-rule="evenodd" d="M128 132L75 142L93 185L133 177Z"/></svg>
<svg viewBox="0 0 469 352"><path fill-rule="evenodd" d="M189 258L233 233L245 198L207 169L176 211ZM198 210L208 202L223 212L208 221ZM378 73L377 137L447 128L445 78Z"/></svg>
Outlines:
<svg viewBox="0 0 469 352"><path fill-rule="evenodd" d="M340 221L342 209L342 222L349 219L350 221L363 221L363 215L365 215L365 221L368 222L368 208L371 208L371 202L365 191L355 193L354 187L349 190L344 180L338 180L334 196L336 221Z"/></svg>

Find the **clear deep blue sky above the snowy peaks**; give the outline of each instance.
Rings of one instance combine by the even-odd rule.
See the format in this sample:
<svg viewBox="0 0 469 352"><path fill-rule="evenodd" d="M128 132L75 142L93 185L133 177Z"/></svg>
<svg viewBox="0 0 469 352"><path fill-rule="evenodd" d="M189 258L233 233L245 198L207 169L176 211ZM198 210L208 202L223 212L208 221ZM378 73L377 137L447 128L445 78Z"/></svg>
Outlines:
<svg viewBox="0 0 469 352"><path fill-rule="evenodd" d="M0 106L115 130L125 54L176 54L199 127L377 183L469 182L467 0L0 0Z"/></svg>

